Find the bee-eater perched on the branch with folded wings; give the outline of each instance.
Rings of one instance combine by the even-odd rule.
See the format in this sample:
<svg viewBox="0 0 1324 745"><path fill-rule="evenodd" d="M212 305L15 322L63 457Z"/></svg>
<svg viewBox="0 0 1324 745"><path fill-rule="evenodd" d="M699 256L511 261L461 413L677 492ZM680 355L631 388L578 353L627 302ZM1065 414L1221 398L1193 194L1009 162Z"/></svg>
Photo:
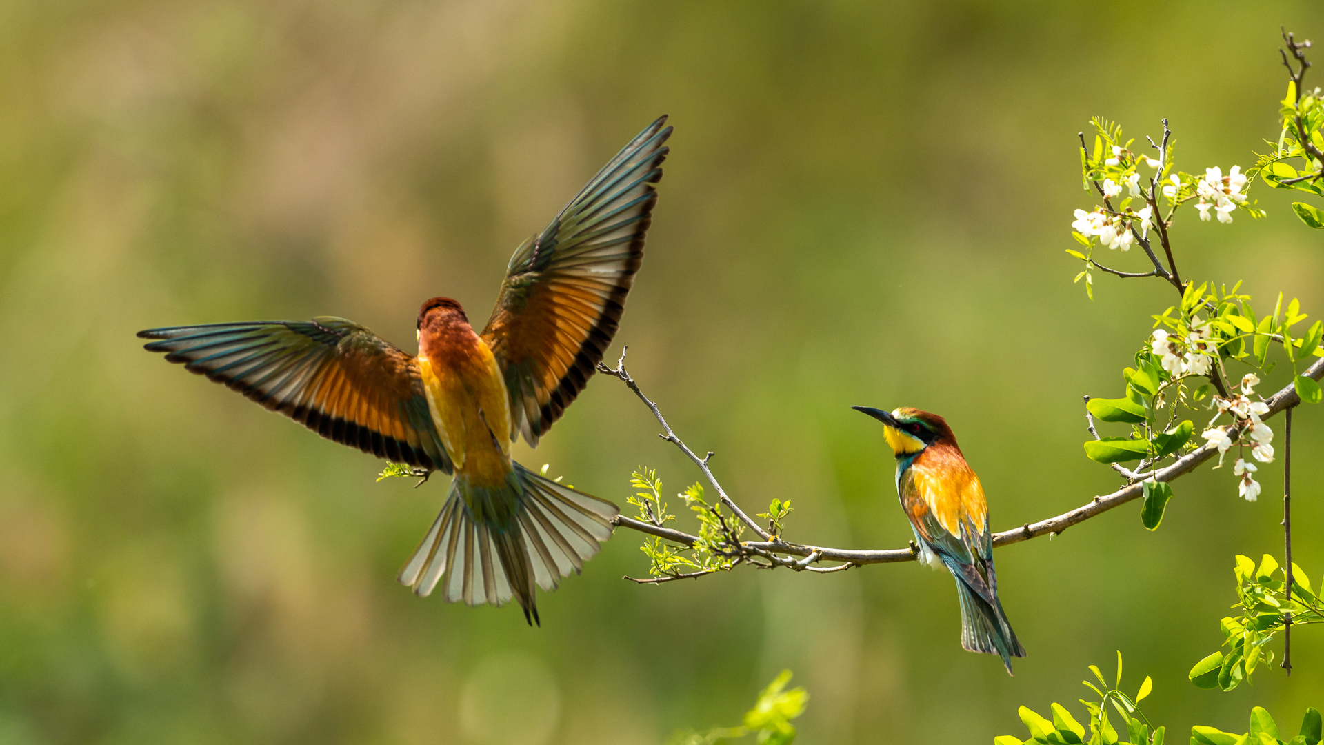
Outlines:
<svg viewBox="0 0 1324 745"><path fill-rule="evenodd" d="M989 510L978 476L965 463L947 420L918 408L892 412L853 406L883 423L896 455L896 494L915 530L920 561L945 566L956 578L961 602L961 647L1000 655L1012 673L1012 658L1023 658L1006 611L997 599Z"/></svg>

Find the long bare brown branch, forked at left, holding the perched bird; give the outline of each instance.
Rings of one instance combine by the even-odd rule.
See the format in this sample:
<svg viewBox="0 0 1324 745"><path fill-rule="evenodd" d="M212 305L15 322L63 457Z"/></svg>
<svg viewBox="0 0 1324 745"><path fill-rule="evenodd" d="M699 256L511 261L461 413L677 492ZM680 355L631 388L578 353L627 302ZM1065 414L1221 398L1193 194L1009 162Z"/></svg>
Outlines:
<svg viewBox="0 0 1324 745"><path fill-rule="evenodd" d="M781 538L773 538L765 530L759 528L752 520L749 520L745 516L745 513L741 512L740 508L737 508L733 501L731 501L726 490L722 489L716 479L712 476L712 472L708 469L707 467L708 459L700 459L695 456L694 452L688 447L686 447L679 437L675 436L671 428L666 426L666 420L658 411L657 404L649 400L647 396L645 396L643 392L639 391L638 383L636 383L634 379L630 378L629 374L625 371L624 351L621 354L621 361L617 363L617 367L614 370L601 365L600 369L605 370L609 375L620 378L622 382L625 382L626 386L629 386L632 391L634 391L634 394L639 398L639 400L642 400L649 407L649 410L653 411L653 415L658 419L658 422L662 423L662 427L666 430L666 433L662 435L662 439L675 444L678 448L681 448L682 452L685 452L690 457L690 460L692 460L696 465L699 465L704 476L708 479L708 483L712 484L712 488L716 489L718 493L722 496L723 504L726 504L736 516L739 516L745 522L745 525L749 525L763 538L763 541L743 541L739 544L739 546L735 547L739 551L739 558L744 559L744 563L752 563L763 569L785 566L788 569L797 571L802 570L802 571L828 573L828 571L842 571L853 566L862 566L866 563L894 563L894 562L915 561L915 558L919 555L919 550L914 542L911 542L911 547L907 549L851 550L851 549L831 549L826 546L813 546L808 544L789 544L786 541L782 541ZM1316 382L1324 378L1324 359L1315 361L1315 363L1311 365L1309 369L1307 369L1305 372L1303 372L1303 375ZM1287 387L1282 388L1280 391L1270 396L1270 399L1266 402L1268 404L1268 412L1260 416L1260 419L1262 420L1271 419L1279 412L1296 406L1298 403L1300 403L1300 400L1301 399L1296 394L1296 388L1292 384L1288 384ZM1241 430L1235 427L1227 432L1227 436L1231 440L1239 439L1241 435L1242 435ZM1152 475L1145 473L1144 476L1147 476L1147 479L1153 479L1156 481L1164 481L1164 483L1174 481L1181 476L1185 476L1186 473L1190 473L1192 471L1200 468L1215 455L1218 455L1218 448L1214 447L1213 443L1210 443L1181 456L1172 465L1153 471ZM1026 522L1021 528L1013 528L1012 530L996 533L993 534L993 547L1001 547L1010 544L1019 544L1021 541L1029 541L1030 538L1037 538L1039 536L1050 536L1050 537L1057 536L1063 530L1066 530L1067 528L1071 528L1072 525L1084 522L1091 517L1096 517L1113 508L1121 506L1140 497L1143 493L1144 493L1143 483L1135 481L1127 484L1125 487L1117 489L1116 492L1112 492L1111 494L1096 496L1087 504L1078 506L1070 512L1064 512L1062 514L1050 517L1047 520L1041 520L1038 522ZM698 536L691 536L690 533L685 533L682 530L674 530L670 528L661 528L658 525L651 525L649 522L634 520L624 514L617 517L614 524L618 528L629 528L630 530L637 530L639 533L646 533L649 536L657 536L658 538L663 538L687 547L692 547L695 544L699 542ZM796 561L786 557L804 557L804 558L801 561ZM842 563L830 567L810 566L813 563L822 561L842 562ZM1288 566L1291 566L1290 559L1288 559ZM691 573L685 575L675 575L674 578L688 579L691 577L694 578L702 577L703 574L707 573L702 571ZM669 582L671 579L673 577L655 578L657 582ZM655 583L655 582L650 581L649 583Z"/></svg>

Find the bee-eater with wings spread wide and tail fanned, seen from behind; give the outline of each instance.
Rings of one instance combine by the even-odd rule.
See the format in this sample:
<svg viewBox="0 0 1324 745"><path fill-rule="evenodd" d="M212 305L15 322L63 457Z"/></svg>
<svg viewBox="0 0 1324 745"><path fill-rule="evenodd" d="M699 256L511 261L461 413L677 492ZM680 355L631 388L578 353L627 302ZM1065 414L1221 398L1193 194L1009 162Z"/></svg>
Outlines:
<svg viewBox="0 0 1324 745"><path fill-rule="evenodd" d="M454 473L441 514L400 573L428 595L502 604L539 623L552 590L612 536L612 502L511 460L584 388L616 334L643 260L666 117L625 146L510 260L475 333L458 302L418 312L418 354L330 315L151 329L148 351L242 392L323 437L426 472Z"/></svg>

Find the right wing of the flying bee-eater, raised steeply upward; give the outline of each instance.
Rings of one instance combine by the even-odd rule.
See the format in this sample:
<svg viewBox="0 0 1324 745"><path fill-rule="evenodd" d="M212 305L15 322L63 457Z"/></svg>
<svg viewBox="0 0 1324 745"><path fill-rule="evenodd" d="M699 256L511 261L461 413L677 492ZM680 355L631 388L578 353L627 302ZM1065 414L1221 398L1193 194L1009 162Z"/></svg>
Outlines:
<svg viewBox="0 0 1324 745"><path fill-rule="evenodd" d="M512 439L523 432L536 445L616 335L643 261L653 184L671 135L665 123L639 133L510 260L483 341L506 378Z"/></svg>

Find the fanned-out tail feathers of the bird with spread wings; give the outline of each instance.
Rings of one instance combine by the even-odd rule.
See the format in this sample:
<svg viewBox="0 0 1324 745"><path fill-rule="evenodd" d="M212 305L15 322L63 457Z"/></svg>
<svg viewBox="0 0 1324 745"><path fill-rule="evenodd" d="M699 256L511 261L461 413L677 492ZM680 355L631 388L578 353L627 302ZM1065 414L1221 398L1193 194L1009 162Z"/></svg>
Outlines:
<svg viewBox="0 0 1324 745"><path fill-rule="evenodd" d="M496 489L471 487L463 475L432 529L400 571L400 582L426 597L440 583L450 602L500 606L515 598L538 623L534 586L553 590L579 573L612 537L616 505L545 479L520 464ZM504 520L475 518L483 504ZM486 510L485 510L486 513Z"/></svg>

